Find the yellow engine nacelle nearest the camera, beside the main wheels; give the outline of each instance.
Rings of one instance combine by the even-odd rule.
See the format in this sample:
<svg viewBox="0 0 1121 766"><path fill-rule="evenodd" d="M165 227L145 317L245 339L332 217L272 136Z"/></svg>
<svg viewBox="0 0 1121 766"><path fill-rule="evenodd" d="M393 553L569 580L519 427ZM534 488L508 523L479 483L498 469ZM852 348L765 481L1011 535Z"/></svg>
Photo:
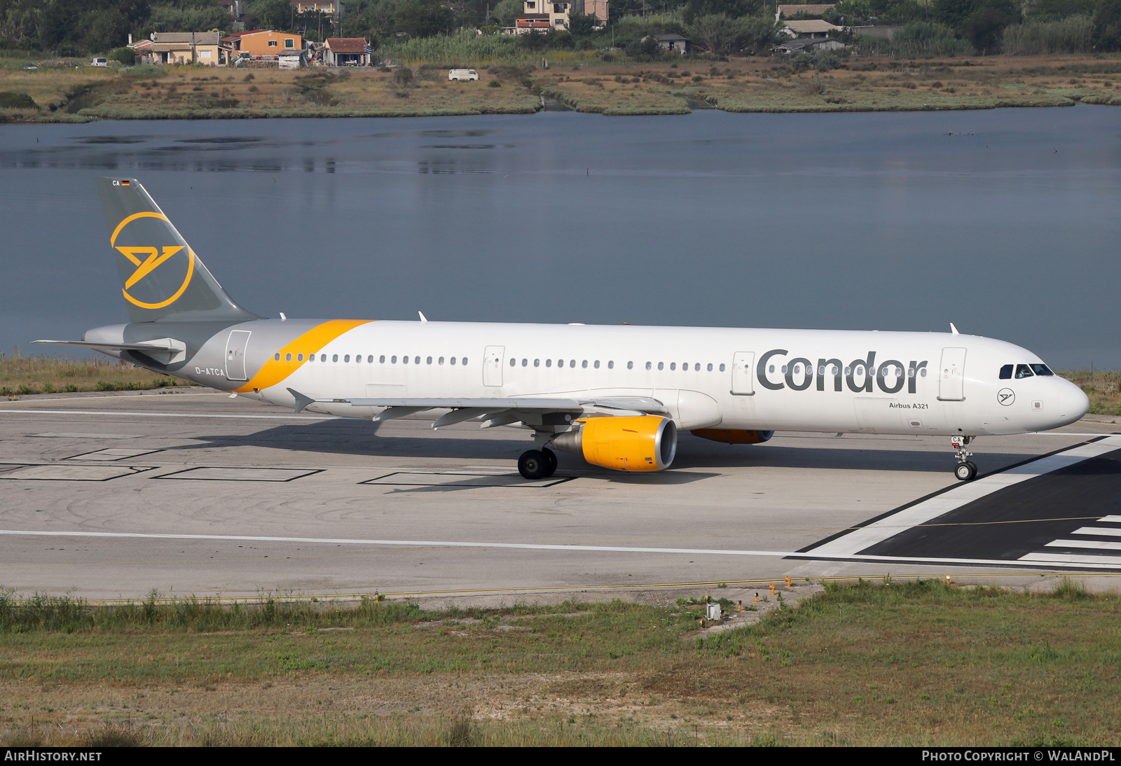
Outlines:
<svg viewBox="0 0 1121 766"><path fill-rule="evenodd" d="M586 418L580 430L558 433L556 449L582 455L593 466L614 470L661 470L677 454L677 427L668 418Z"/></svg>

